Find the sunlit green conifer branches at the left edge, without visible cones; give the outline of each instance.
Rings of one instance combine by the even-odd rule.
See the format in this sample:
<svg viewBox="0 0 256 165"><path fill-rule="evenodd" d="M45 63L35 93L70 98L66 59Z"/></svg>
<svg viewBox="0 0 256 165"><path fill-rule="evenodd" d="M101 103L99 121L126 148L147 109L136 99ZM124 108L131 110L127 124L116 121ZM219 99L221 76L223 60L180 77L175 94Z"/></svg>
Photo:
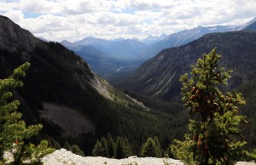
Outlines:
<svg viewBox="0 0 256 165"><path fill-rule="evenodd" d="M17 112L20 101L10 101L13 96L11 91L23 86L19 79L26 76L25 71L29 66L26 62L15 69L10 77L0 79L0 164L39 163L40 157L53 151L47 148L46 140L42 140L38 146L29 143L29 139L37 135L43 126L37 124L26 128L26 123L20 120L22 114Z"/></svg>

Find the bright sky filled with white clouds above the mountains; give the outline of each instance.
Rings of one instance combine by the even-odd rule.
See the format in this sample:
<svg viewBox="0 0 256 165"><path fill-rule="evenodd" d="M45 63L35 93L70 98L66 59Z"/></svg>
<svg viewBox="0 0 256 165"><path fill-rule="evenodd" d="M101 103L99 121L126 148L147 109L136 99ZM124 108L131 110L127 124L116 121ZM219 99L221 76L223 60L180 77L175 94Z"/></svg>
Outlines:
<svg viewBox="0 0 256 165"><path fill-rule="evenodd" d="M0 0L0 14L50 41L143 39L245 24L256 17L256 0Z"/></svg>

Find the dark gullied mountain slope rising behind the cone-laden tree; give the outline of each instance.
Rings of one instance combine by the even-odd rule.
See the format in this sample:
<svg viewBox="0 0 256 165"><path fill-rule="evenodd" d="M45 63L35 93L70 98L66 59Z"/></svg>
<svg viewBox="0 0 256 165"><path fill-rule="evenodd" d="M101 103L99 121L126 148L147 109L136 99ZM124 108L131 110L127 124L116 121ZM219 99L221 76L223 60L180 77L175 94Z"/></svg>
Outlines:
<svg viewBox="0 0 256 165"><path fill-rule="evenodd" d="M256 78L256 32L212 33L177 48L168 48L146 61L121 84L123 88L172 100L180 93L179 77L204 53L218 47L222 64L234 70L229 88L236 88Z"/></svg>

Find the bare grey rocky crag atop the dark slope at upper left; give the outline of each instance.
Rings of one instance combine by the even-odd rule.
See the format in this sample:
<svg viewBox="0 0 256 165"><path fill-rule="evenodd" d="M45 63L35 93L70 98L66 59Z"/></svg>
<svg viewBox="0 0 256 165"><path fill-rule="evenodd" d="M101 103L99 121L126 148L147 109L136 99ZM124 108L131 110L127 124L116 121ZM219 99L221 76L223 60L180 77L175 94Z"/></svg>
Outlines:
<svg viewBox="0 0 256 165"><path fill-rule="evenodd" d="M0 16L0 48L7 48L15 51L17 48L32 51L37 40L29 31L21 29L9 18Z"/></svg>

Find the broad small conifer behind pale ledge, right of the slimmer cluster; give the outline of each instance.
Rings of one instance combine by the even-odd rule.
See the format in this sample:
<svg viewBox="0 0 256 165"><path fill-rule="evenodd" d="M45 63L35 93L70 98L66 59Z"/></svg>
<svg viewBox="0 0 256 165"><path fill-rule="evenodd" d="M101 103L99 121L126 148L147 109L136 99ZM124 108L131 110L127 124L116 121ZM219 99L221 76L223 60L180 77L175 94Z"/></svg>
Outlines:
<svg viewBox="0 0 256 165"><path fill-rule="evenodd" d="M154 139L148 138L145 144L142 147L141 150L141 156L143 157L160 157L161 154L161 148L160 143L157 137Z"/></svg>

